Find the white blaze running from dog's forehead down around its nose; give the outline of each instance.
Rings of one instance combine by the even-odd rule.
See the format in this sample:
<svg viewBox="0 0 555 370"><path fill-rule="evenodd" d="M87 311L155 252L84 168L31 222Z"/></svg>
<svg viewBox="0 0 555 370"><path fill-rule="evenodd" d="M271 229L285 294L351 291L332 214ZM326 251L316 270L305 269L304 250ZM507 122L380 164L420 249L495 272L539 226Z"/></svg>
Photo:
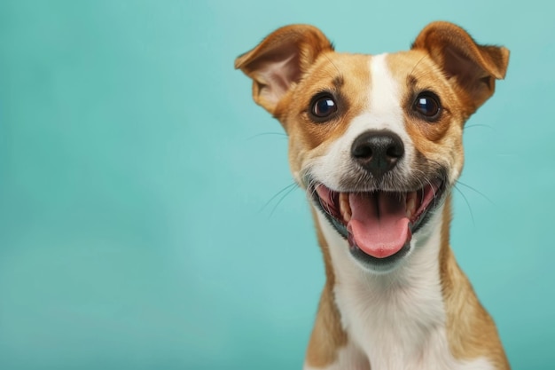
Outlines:
<svg viewBox="0 0 555 370"><path fill-rule="evenodd" d="M368 107L348 122L348 130L329 146L326 154L310 163L312 177L333 190L343 190L340 189L341 178L354 166L351 146L368 130L389 130L397 134L403 140L405 153L395 170L402 177L408 177L410 172L415 149L405 129L401 89L389 71L387 54L369 57L368 67L370 85L368 91L361 91L367 96Z"/></svg>

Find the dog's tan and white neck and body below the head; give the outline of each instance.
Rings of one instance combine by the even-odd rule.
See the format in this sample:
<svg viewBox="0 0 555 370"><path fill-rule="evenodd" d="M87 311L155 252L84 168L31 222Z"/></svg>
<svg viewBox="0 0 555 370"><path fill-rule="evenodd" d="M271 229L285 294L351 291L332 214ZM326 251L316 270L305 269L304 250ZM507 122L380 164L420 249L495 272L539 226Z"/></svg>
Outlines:
<svg viewBox="0 0 555 370"><path fill-rule="evenodd" d="M493 321L450 251L449 197L411 241L410 256L386 274L356 264L347 240L313 214L327 281L305 369L509 368ZM484 330L489 342L477 339Z"/></svg>

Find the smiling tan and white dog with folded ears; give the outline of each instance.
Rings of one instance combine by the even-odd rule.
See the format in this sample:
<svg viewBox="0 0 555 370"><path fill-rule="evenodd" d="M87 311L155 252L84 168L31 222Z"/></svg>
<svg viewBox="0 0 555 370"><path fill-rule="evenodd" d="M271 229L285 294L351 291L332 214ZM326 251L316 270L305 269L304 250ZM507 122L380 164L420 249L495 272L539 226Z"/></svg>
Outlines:
<svg viewBox="0 0 555 370"><path fill-rule="evenodd" d="M324 256L305 370L510 368L449 246L465 122L508 60L444 21L379 55L291 25L235 60L285 129Z"/></svg>

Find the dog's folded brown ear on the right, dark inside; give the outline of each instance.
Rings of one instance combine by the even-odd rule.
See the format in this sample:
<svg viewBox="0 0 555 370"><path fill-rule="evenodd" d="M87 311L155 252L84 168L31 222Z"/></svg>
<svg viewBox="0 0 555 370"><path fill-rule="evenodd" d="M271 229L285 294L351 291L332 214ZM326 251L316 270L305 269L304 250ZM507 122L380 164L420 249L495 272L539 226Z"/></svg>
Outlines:
<svg viewBox="0 0 555 370"><path fill-rule="evenodd" d="M448 78L455 77L473 100L474 109L493 94L495 80L504 78L509 63L506 48L479 45L463 28L449 22L430 23L412 49L427 51Z"/></svg>

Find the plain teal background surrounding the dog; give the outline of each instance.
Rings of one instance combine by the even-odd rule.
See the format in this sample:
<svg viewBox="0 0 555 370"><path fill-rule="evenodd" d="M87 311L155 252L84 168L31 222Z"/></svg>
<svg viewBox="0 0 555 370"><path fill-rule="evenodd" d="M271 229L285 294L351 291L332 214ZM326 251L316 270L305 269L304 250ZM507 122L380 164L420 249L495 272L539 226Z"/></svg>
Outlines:
<svg viewBox="0 0 555 370"><path fill-rule="evenodd" d="M301 368L323 264L286 139L233 60L289 23L379 53L450 20L512 51L465 130L452 244L513 368L552 369L553 11L3 0L0 368Z"/></svg>

